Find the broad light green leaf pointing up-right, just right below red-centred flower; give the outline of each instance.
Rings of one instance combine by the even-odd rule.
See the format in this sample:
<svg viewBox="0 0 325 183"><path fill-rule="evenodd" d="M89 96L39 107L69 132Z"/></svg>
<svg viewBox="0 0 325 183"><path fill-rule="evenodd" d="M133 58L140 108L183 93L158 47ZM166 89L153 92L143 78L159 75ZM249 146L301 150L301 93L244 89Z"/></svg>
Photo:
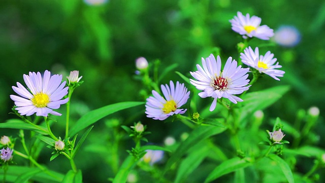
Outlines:
<svg viewBox="0 0 325 183"><path fill-rule="evenodd" d="M269 107L288 92L288 90L289 86L283 85L245 94L241 97L243 102L239 103L242 105L239 111L240 121L245 120L257 110L263 110Z"/></svg>

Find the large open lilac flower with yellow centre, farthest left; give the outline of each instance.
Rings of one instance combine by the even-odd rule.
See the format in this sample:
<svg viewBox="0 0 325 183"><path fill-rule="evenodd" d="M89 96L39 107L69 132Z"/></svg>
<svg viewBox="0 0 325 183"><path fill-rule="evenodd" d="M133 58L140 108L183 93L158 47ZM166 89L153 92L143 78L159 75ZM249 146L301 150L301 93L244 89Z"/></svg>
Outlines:
<svg viewBox="0 0 325 183"><path fill-rule="evenodd" d="M12 88L19 96L10 95L20 115L30 116L34 113L45 117L49 113L61 115L52 109L58 109L60 105L69 101L69 98L61 100L68 94L68 87L64 87L66 81L62 82L62 75L51 76L51 73L46 70L43 78L40 72L29 72L29 75L24 74L23 78L30 92L17 82L18 87L12 86Z"/></svg>

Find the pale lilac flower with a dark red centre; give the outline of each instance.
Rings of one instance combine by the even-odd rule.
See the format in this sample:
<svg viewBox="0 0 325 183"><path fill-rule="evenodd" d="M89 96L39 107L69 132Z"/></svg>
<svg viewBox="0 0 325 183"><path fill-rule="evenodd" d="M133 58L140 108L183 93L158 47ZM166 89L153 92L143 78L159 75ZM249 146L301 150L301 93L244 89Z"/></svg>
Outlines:
<svg viewBox="0 0 325 183"><path fill-rule="evenodd" d="M190 72L198 80L190 79L190 83L203 91L199 93L200 97L214 98L210 111L215 109L217 99L221 97L228 98L235 104L237 104L237 101L243 101L234 95L248 90L249 86L246 86L249 82L247 79L248 68L237 67L236 60L232 61L232 57L229 57L221 72L220 56L218 55L216 60L213 54L210 54L206 59L202 58L202 65L203 69L200 65L197 65L198 71Z"/></svg>

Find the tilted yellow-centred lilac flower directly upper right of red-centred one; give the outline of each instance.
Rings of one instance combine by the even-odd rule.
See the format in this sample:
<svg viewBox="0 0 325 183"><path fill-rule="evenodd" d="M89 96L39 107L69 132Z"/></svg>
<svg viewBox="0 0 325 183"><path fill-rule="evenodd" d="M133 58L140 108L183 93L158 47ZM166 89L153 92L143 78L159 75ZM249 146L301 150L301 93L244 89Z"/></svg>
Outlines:
<svg viewBox="0 0 325 183"><path fill-rule="evenodd" d="M271 76L275 80L280 80L277 77L283 77L284 71L277 70L282 66L276 62L276 58L273 58L274 54L270 51L266 52L266 54L259 55L258 47L255 48L255 51L251 47L248 47L244 50L244 53L240 53L240 58L242 62L249 67L256 69L259 73L265 73Z"/></svg>

